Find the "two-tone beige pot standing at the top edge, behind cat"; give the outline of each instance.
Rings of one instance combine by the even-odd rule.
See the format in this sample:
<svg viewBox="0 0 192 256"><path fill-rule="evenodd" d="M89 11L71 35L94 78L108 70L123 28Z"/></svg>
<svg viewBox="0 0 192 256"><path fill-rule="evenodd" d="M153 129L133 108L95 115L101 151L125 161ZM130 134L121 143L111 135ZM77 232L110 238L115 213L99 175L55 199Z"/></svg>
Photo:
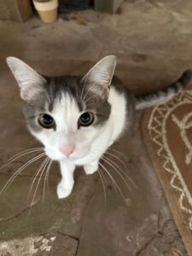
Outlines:
<svg viewBox="0 0 192 256"><path fill-rule="evenodd" d="M48 0L47 2L38 2L33 0L38 15L45 23L51 23L57 20L58 0Z"/></svg>

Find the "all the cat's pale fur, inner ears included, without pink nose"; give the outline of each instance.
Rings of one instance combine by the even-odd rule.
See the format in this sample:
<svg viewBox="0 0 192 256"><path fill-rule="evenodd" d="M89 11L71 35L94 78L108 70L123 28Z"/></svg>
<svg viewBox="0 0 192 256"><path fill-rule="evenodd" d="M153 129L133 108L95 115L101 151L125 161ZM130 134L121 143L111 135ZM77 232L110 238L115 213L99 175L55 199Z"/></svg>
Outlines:
<svg viewBox="0 0 192 256"><path fill-rule="evenodd" d="M32 67L14 57L9 57L7 62L20 86L20 96L25 101L41 92L45 80ZM105 86L108 90L115 66L115 56L108 55L97 62L83 80L89 80L91 84L98 84L98 86ZM45 111L55 119L56 129L32 131L32 134L44 144L45 153L49 158L60 162L61 182L57 186L59 198L70 195L73 189L75 166L84 166L84 172L87 174L96 172L102 154L124 130L126 119L124 94L111 87L108 102L111 104L111 113L107 122L103 125L90 125L78 129L77 123L82 113L79 112L75 100L63 94L61 100L55 102L51 113L48 108ZM36 122L38 125L38 117ZM62 153L62 148L67 147L75 148L69 157Z"/></svg>

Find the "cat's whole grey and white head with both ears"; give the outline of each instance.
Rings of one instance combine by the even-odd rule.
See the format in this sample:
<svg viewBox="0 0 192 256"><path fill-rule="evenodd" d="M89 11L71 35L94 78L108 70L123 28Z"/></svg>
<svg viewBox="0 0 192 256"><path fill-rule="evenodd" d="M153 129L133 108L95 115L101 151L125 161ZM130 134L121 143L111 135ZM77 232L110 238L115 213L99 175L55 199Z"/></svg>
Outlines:
<svg viewBox="0 0 192 256"><path fill-rule="evenodd" d="M49 78L15 57L7 62L20 86L28 128L49 158L78 160L90 153L110 116L115 56L98 61L83 78Z"/></svg>

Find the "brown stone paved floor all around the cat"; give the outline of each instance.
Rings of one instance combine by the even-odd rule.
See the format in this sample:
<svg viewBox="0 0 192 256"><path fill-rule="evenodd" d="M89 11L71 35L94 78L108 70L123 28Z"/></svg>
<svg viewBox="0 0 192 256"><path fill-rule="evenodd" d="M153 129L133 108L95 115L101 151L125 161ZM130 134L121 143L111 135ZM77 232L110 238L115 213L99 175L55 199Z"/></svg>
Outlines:
<svg viewBox="0 0 192 256"><path fill-rule="evenodd" d="M118 57L116 73L137 95L165 87L192 67L192 3L189 0L125 2L119 15L92 10L65 16L51 25L38 18L24 24L0 21L0 164L38 145L29 135L21 113L19 90L5 57L14 55L49 75L84 74L104 55ZM130 189L111 166L125 199L116 195L106 176L107 200L96 174L76 172L73 194L55 195L60 179L51 168L49 190L42 188L31 211L26 201L38 164L27 167L0 195L0 255L65 256L186 256L165 195L151 166L139 122L113 145L137 189ZM110 151L112 152L112 151ZM125 157L122 156L124 154ZM15 160L0 171L3 186L30 157ZM119 160L111 157L119 166ZM123 168L124 166L122 166Z"/></svg>

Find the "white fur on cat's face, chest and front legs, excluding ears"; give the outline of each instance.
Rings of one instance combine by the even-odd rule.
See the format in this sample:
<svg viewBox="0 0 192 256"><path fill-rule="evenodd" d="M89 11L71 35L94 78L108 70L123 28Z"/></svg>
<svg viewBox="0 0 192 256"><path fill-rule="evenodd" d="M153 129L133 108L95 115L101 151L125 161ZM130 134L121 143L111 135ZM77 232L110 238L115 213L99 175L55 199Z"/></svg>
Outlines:
<svg viewBox="0 0 192 256"><path fill-rule="evenodd" d="M57 195L64 198L73 189L73 171L75 166L84 166L86 174L96 172L98 161L107 148L120 136L125 128L126 100L113 87L109 92L108 102L111 113L104 125L81 127L77 122L81 113L76 102L63 95L60 102L55 102L51 113L47 111L56 123L56 130L44 129L32 132L41 143L49 158L59 160L61 165L61 183L57 187ZM75 145L76 149L68 158L61 153L61 146Z"/></svg>

